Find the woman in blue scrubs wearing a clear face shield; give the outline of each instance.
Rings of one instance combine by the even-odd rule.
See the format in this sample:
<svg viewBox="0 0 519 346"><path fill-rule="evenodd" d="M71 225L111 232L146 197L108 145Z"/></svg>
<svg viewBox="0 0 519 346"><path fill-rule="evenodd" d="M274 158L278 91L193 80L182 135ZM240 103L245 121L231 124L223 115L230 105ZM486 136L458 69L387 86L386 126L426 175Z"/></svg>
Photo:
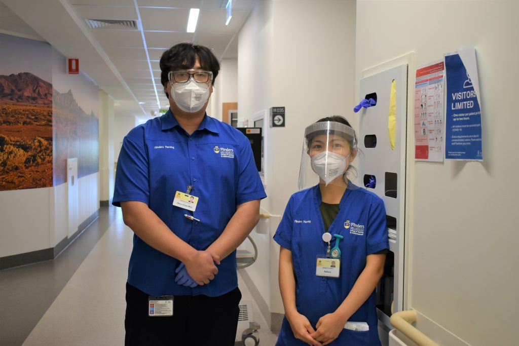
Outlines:
<svg viewBox="0 0 519 346"><path fill-rule="evenodd" d="M356 156L345 118L305 129L302 190L274 236L285 310L276 345L380 346L374 291L389 248L386 211L378 196L347 178Z"/></svg>

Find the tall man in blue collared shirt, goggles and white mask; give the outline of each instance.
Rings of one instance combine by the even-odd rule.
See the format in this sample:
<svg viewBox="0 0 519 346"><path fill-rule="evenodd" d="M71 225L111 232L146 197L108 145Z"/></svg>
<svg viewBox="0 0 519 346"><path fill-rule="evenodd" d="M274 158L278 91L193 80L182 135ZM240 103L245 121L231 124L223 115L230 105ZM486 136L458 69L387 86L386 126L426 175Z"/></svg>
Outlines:
<svg viewBox="0 0 519 346"><path fill-rule="evenodd" d="M234 345L235 250L266 195L250 142L206 114L219 69L207 47L165 51L170 109L122 144L113 204L134 232L126 345Z"/></svg>

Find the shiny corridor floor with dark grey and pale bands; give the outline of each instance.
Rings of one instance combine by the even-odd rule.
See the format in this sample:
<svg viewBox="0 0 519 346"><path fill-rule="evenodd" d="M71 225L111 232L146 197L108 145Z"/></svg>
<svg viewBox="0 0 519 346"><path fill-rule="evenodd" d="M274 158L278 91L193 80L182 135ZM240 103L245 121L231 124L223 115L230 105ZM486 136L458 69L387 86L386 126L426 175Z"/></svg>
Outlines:
<svg viewBox="0 0 519 346"><path fill-rule="evenodd" d="M1 344L121 344L131 247L132 232L120 209L102 207L99 218L56 260L1 271ZM238 278L242 299L253 304L261 344L274 345L277 336Z"/></svg>

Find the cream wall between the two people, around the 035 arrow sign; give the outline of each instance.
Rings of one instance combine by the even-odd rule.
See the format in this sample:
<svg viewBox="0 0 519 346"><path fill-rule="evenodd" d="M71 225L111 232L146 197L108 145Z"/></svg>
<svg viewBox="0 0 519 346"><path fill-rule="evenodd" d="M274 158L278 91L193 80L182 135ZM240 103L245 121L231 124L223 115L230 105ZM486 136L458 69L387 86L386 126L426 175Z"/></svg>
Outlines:
<svg viewBox="0 0 519 346"><path fill-rule="evenodd" d="M354 3L327 0L260 2L238 41L238 112L252 123L263 109L285 106L286 127L267 128L264 211L282 215L297 191L303 133L321 117L351 118L354 104ZM339 82L337 82L339 80ZM266 119L268 123L268 119ZM271 312L283 313L278 288L279 246L252 233L258 261L247 268ZM269 273L266 275L266 273Z"/></svg>

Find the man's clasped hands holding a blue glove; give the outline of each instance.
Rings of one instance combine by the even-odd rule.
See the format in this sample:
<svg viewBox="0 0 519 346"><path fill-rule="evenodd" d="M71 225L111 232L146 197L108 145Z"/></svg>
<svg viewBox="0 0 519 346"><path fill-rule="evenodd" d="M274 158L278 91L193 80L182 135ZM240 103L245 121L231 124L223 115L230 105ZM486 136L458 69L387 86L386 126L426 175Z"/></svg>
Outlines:
<svg viewBox="0 0 519 346"><path fill-rule="evenodd" d="M220 264L220 257L208 251L197 251L195 256L176 268L175 282L188 287L208 284L218 273L215 264Z"/></svg>

